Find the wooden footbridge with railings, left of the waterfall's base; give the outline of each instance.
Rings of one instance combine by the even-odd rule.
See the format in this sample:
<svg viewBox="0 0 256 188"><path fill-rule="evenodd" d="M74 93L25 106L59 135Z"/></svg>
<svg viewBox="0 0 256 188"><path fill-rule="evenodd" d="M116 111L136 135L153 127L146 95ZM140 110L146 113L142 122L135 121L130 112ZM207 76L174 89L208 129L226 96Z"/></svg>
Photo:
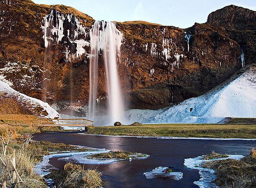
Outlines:
<svg viewBox="0 0 256 188"><path fill-rule="evenodd" d="M88 119L45 119L40 118L31 121L32 126L52 126L52 127L85 127L85 126L93 126L93 121Z"/></svg>

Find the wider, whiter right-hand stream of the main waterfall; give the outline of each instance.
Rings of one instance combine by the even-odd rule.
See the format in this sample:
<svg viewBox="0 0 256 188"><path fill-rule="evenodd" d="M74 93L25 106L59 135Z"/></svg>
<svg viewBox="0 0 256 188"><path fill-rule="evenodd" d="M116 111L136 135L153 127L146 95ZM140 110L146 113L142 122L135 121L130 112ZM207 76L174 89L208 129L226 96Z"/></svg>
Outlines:
<svg viewBox="0 0 256 188"><path fill-rule="evenodd" d="M107 77L107 93L108 93L108 107L111 123L121 121L123 119L123 100L119 86L119 74L117 70L116 52L120 53L120 46L122 41L122 34L116 29L112 22L107 22L107 26L102 32L105 35L102 39L105 41L104 45L104 63Z"/></svg>

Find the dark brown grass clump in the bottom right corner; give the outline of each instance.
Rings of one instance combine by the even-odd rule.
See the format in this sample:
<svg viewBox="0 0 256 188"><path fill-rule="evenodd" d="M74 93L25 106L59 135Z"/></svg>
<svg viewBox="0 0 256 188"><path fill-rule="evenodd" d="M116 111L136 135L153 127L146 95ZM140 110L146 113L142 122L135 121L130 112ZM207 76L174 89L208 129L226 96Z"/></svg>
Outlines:
<svg viewBox="0 0 256 188"><path fill-rule="evenodd" d="M255 188L256 157L252 149L249 156L240 160L224 159L204 162L203 167L214 169L217 178L214 180L220 188Z"/></svg>

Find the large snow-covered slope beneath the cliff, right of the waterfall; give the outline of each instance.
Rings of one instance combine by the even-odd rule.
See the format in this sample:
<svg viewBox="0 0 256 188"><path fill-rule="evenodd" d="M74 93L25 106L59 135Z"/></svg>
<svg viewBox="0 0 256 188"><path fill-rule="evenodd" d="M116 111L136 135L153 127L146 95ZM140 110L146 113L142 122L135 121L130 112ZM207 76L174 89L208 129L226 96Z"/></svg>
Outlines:
<svg viewBox="0 0 256 188"><path fill-rule="evenodd" d="M164 111L131 109L127 114L130 121L142 123L218 123L225 117L256 117L256 68Z"/></svg>

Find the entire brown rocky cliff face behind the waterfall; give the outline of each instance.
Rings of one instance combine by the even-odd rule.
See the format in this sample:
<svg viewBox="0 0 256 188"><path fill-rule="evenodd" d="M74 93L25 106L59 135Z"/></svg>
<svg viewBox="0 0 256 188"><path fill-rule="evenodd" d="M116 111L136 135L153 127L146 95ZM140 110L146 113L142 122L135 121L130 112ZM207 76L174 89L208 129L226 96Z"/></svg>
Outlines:
<svg viewBox="0 0 256 188"><path fill-rule="evenodd" d="M0 2L1 74L13 82L15 90L58 108L85 106L94 20L63 5ZM244 62L254 63L255 25L254 11L232 5L187 29L117 22L123 34L119 76L128 107L167 107L209 91ZM99 105L105 103L105 88L100 60Z"/></svg>

